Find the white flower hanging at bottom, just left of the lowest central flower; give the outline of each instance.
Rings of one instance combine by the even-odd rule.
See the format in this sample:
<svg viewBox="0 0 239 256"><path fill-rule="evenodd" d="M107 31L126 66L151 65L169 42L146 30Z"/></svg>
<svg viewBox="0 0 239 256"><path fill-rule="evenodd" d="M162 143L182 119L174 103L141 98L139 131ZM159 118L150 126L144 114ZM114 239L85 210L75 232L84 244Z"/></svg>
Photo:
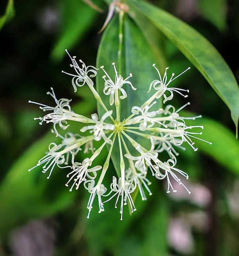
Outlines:
<svg viewBox="0 0 239 256"><path fill-rule="evenodd" d="M107 192L107 188L103 184L95 186L95 180L85 181L84 182L84 187L90 193L90 197L89 197L88 204L87 204L87 209L89 210L87 218L89 219L91 209L93 208L92 207L93 201L94 201L96 196L98 197L98 204L99 204L99 211L98 212L101 213L102 211L105 210L101 197L106 196L105 193Z"/></svg>

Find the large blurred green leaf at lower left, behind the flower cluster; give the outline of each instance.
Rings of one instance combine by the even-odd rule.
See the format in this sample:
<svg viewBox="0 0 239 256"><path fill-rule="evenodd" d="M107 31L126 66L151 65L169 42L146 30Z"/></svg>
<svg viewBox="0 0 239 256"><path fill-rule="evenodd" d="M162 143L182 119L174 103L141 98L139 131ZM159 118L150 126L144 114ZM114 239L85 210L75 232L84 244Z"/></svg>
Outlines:
<svg viewBox="0 0 239 256"><path fill-rule="evenodd" d="M84 87L80 91L87 101L82 101L73 107L73 110L89 115L95 109L95 104L88 102L89 88ZM80 128L81 124L72 123L68 130L79 132ZM50 216L72 204L76 192L69 192L69 189L64 186L68 169L55 168L49 180L46 179L45 174L41 173L41 167L28 172L28 169L35 166L45 155L50 142L56 140L60 141L52 133L47 133L13 164L2 181L0 236L6 235L12 227L25 223L31 218Z"/></svg>

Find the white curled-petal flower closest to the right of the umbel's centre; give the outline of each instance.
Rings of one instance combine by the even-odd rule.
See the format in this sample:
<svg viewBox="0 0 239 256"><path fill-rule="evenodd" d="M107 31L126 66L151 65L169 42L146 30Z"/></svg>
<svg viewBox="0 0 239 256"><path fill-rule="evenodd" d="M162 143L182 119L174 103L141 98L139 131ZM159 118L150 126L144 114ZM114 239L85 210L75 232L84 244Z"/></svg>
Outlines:
<svg viewBox="0 0 239 256"><path fill-rule="evenodd" d="M139 130L141 130L141 131L145 131L146 128L153 127L154 123L158 123L160 125L165 126L162 122L153 119L153 117L162 113L162 109L149 112L149 109L156 103L157 102L154 101L151 105L146 105L143 108L138 107L138 106L133 106L131 109L131 112L132 112L132 114L138 115L138 116L129 119L125 123L125 125L140 123ZM147 123L150 123L150 124L148 125Z"/></svg>

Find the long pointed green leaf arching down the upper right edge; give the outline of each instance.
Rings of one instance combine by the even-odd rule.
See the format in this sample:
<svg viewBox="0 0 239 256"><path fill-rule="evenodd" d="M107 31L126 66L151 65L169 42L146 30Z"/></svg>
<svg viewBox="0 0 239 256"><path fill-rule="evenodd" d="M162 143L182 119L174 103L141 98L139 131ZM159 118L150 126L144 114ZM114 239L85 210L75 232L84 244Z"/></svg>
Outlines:
<svg viewBox="0 0 239 256"><path fill-rule="evenodd" d="M194 64L231 111L238 128L239 88L236 79L217 50L195 29L168 12L141 0L128 1L129 15L141 11Z"/></svg>

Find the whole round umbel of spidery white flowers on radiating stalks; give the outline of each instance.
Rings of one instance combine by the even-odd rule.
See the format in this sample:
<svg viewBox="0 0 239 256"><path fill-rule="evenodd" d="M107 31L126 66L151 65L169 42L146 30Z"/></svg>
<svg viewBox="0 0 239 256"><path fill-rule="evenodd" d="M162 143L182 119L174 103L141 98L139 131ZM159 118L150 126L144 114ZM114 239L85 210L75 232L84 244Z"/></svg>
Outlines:
<svg viewBox="0 0 239 256"><path fill-rule="evenodd" d="M199 139L196 136L200 135L201 132L193 132L192 129L203 129L203 126L187 126L186 119L195 119L201 116L186 118L180 115L180 111L190 103L186 103L177 110L172 105L152 110L152 106L157 104L162 97L163 103L166 103L172 100L175 92L185 98L188 96L185 94L188 93L188 90L171 87L170 85L190 67L181 74L175 75L172 73L168 79L168 67L165 69L164 74L161 75L155 64L153 64L156 76L158 76L149 85L148 92L154 90L153 95L141 106L132 106L131 115L120 116L120 104L127 97L125 87L129 86L132 90L137 89L130 82L132 74L123 78L118 74L115 63L112 63L115 77L110 77L104 66L100 67L104 73L102 77L104 79L103 93L109 96L111 109L108 109L96 91L92 80L98 74L99 69L94 66L86 66L82 60L77 62L76 57L71 57L68 52L67 54L71 59L70 67L73 72L62 72L72 77L71 82L74 91L76 92L78 87L88 86L95 99L105 110L105 113L101 117L96 113L92 114L91 117L76 114L71 110L71 100L65 98L58 100L52 88L47 94L54 99L54 106L29 101L29 103L40 105L40 109L43 112L47 112L43 117L35 119L40 120L40 124L43 122L52 123L54 133L62 139L61 144L50 143L48 153L29 171L37 166L42 166L42 172L47 173L47 179L49 179L55 166L70 169L70 172L66 175L68 181L65 185L69 187L70 191L81 187L89 192L88 218L95 198L98 200L99 213L104 211L104 204L113 199L115 200L115 207L117 208L119 205L121 220L124 205L129 204L131 211L134 212L136 207L131 193L138 188L142 200L146 200L146 194L152 194L149 188L151 184L149 176L153 176L158 180L166 180L167 193L176 192L172 180L182 185L190 193L181 181L181 178L188 179L188 175L175 167L177 163L176 156L178 156L176 149L183 148L182 144L186 142L194 151L197 151L197 148L194 147L193 139ZM160 104L158 103L158 105ZM155 106L153 109L155 109ZM113 112L115 113L114 115ZM80 135L67 132L64 136L61 136L58 133L59 128L62 130L68 129L67 121L69 120L85 125L80 129ZM88 135L84 136L86 131L90 133L88 132ZM144 145L133 139L135 135L148 140L151 147L145 148ZM101 142L99 148L94 149L94 140ZM94 164L95 159L107 145L109 145L109 150L103 166L96 166ZM83 147L86 149L85 151L90 148L92 154L81 163L76 162L75 156L78 153L84 154ZM113 176L112 183L106 188L104 177L109 169L113 148L119 151L120 177ZM159 159L159 153L163 151L166 151L169 156L166 162Z"/></svg>

